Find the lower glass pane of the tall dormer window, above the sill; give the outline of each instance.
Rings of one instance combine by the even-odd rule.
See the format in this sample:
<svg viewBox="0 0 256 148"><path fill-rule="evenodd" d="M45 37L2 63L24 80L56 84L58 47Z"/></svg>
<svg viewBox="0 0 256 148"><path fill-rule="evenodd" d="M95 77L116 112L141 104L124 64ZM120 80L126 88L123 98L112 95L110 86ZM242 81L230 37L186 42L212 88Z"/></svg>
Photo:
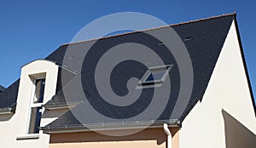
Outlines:
<svg viewBox="0 0 256 148"><path fill-rule="evenodd" d="M28 129L28 134L38 134L41 122L41 109L42 107L32 107L31 117L30 117L30 126Z"/></svg>

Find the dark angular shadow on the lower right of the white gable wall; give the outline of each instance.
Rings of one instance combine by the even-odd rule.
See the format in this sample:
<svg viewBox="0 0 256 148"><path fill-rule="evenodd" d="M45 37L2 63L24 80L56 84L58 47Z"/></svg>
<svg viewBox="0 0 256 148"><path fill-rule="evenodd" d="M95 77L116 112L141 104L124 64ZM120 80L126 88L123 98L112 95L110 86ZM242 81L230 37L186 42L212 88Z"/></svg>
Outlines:
<svg viewBox="0 0 256 148"><path fill-rule="evenodd" d="M226 148L254 148L256 135L238 122L227 111L222 110L224 117Z"/></svg>

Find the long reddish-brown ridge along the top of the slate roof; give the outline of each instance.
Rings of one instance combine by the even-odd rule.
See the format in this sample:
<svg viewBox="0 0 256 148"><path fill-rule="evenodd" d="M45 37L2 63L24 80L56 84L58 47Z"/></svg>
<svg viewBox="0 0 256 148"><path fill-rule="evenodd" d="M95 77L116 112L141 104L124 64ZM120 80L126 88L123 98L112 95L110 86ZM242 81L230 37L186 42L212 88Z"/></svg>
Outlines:
<svg viewBox="0 0 256 148"><path fill-rule="evenodd" d="M91 39L88 39L88 40L79 41L79 42L75 42L75 43L64 43L64 44L61 44L61 46L67 46L67 45L72 45L72 44L77 44L77 43L87 43L87 42L90 42L90 41L96 41L96 40L99 40L99 39L106 39L106 38L111 38L111 37L125 36L125 35L128 35L128 34L133 34L133 33L142 32L142 31L153 31L153 30L160 29L160 28L165 28L165 27L168 27L168 26L181 26L181 25L195 23L195 22L204 21L204 20L218 19L218 18L221 18L221 17L230 16L230 15L236 15L236 12L231 13L231 14L222 14L222 15L211 16L211 17L204 18L204 19L189 20L189 21L184 21L184 22L180 22L180 23L177 23L177 24L171 24L171 25L166 25L166 26L157 26L157 27L152 27L152 28L149 28L149 29L143 29L143 30L139 30L139 31L125 32L125 33L116 34L116 35L107 36L107 37L96 37L96 38L91 38Z"/></svg>

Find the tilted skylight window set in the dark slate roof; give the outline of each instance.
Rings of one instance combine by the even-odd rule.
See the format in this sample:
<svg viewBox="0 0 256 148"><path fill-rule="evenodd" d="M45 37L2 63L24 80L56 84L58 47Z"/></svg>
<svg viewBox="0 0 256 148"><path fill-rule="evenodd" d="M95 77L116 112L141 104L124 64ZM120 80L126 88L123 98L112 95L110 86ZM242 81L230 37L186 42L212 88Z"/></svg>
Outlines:
<svg viewBox="0 0 256 148"><path fill-rule="evenodd" d="M141 81L138 83L137 88L152 88L160 87L166 77L169 75L173 65L162 65L148 68Z"/></svg>

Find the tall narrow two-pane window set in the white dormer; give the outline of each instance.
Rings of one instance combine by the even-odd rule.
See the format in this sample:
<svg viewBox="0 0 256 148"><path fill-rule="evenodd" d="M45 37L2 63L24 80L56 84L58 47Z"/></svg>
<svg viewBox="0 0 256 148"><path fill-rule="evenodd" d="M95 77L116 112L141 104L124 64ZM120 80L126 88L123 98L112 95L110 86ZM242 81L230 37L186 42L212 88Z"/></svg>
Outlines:
<svg viewBox="0 0 256 148"><path fill-rule="evenodd" d="M32 100L27 134L38 134L38 127L40 126L42 116L42 104L44 100L45 78L34 78L32 83Z"/></svg>

